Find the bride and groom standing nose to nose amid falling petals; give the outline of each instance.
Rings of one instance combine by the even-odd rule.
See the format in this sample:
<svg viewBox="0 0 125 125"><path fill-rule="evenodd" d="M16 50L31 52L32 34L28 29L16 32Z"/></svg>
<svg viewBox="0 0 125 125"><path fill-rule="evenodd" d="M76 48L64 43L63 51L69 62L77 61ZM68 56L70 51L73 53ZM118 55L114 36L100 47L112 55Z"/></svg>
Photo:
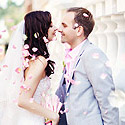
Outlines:
<svg viewBox="0 0 125 125"><path fill-rule="evenodd" d="M115 90L108 59L87 39L94 27L92 14L85 8L70 8L58 29L62 43L71 46L56 91L63 103L59 114L45 108L41 97L54 72L46 44L56 28L47 11L30 12L24 20L1 66L0 125L43 125L44 118L53 125L118 125L118 109L108 101Z"/></svg>

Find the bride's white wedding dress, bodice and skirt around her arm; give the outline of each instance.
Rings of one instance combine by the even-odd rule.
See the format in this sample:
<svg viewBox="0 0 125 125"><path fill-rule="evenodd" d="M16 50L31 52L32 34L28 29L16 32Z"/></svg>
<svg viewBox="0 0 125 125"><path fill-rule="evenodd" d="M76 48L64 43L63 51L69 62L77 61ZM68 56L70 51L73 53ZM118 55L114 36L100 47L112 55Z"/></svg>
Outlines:
<svg viewBox="0 0 125 125"><path fill-rule="evenodd" d="M42 79L34 94L34 100L41 104L43 101L42 94L50 88L50 80L48 77ZM44 125L44 118L33 114L17 105L10 104L7 114L4 115L4 120L0 125ZM8 111L9 110L9 111Z"/></svg>

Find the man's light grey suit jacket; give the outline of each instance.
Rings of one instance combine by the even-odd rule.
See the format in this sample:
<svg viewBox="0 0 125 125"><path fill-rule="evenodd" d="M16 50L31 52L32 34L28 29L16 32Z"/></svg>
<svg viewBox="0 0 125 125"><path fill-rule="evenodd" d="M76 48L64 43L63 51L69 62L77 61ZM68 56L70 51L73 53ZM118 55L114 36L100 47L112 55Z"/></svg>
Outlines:
<svg viewBox="0 0 125 125"><path fill-rule="evenodd" d="M72 84L66 95L62 76L56 92L60 100L65 101L65 109L68 109L68 125L119 125L118 109L108 101L115 87L105 54L86 40L74 68L71 77L80 84Z"/></svg>

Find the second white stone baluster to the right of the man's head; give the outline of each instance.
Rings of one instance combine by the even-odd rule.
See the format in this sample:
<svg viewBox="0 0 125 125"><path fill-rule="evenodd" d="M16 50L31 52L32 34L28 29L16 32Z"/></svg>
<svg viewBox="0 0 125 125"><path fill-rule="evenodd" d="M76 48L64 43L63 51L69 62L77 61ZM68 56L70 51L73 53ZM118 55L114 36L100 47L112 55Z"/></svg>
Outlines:
<svg viewBox="0 0 125 125"><path fill-rule="evenodd" d="M111 20L110 16L105 16L101 18L101 21L105 23L106 30L104 31L107 37L107 56L112 64L112 68L114 68L117 58L118 51L118 40L117 36L114 33L116 29L116 23Z"/></svg>

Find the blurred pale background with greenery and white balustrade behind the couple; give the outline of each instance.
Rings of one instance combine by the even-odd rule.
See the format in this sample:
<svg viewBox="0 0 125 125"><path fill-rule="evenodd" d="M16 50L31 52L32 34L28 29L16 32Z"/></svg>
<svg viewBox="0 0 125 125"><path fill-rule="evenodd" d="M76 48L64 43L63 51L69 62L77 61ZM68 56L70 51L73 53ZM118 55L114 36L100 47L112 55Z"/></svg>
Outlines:
<svg viewBox="0 0 125 125"><path fill-rule="evenodd" d="M26 13L48 10L58 27L67 8L82 6L90 10L95 18L95 28L89 39L108 56L116 88L125 92L124 5L125 0L0 0L0 60L4 58L11 33ZM57 39L50 43L49 48L51 58L56 62L56 72L52 78L56 89L63 69L64 46ZM123 107L120 117L125 121Z"/></svg>

